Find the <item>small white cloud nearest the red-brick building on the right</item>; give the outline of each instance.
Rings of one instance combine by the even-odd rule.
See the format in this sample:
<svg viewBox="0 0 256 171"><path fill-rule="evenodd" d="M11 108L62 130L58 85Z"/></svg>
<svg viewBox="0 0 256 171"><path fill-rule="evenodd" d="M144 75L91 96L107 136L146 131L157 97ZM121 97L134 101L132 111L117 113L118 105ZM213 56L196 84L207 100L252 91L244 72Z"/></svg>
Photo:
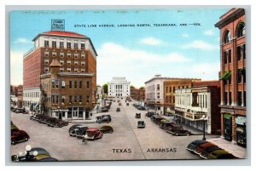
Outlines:
<svg viewBox="0 0 256 171"><path fill-rule="evenodd" d="M182 48L197 48L201 50L214 50L218 49L218 44L206 43L201 40L195 40L192 43L184 44Z"/></svg>

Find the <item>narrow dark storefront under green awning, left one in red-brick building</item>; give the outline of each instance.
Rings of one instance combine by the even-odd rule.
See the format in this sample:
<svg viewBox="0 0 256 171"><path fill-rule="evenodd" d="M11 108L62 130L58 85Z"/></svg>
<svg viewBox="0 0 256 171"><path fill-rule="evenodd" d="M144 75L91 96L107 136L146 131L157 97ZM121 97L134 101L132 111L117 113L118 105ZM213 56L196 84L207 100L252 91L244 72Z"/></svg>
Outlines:
<svg viewBox="0 0 256 171"><path fill-rule="evenodd" d="M224 113L224 139L232 140L232 115Z"/></svg>

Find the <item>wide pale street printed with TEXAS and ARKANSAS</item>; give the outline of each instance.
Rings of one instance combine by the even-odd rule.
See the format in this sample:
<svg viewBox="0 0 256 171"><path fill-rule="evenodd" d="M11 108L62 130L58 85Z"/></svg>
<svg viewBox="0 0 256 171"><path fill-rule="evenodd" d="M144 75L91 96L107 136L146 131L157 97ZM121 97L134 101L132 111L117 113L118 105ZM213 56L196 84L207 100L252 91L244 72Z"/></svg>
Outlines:
<svg viewBox="0 0 256 171"><path fill-rule="evenodd" d="M73 160L148 160L148 159L200 159L197 155L186 150L186 146L192 140L201 139L201 135L173 136L152 123L149 117L145 117L147 111L138 111L132 105L122 106L113 102L108 112L97 113L96 116L109 114L111 123L83 123L88 127L100 128L102 125L113 127L113 134L104 134L102 139L88 140L84 144L82 140L71 137L67 127L50 128L45 124L29 119L29 115L15 114L11 112L11 120L15 125L30 135L30 140L11 145L11 155L25 150L27 144L32 147L42 147L49 151L51 157L59 161ZM116 108L120 111L116 112ZM135 113L142 113L141 119L135 118ZM143 120L146 128L137 128L137 121Z"/></svg>

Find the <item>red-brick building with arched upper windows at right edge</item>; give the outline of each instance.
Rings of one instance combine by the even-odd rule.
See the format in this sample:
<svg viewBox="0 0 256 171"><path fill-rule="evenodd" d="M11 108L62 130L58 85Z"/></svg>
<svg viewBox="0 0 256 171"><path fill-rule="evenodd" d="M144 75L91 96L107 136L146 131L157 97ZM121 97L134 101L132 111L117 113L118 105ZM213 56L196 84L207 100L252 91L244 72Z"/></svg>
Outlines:
<svg viewBox="0 0 256 171"><path fill-rule="evenodd" d="M246 146L245 10L230 9L215 24L220 29L220 115L225 140Z"/></svg>

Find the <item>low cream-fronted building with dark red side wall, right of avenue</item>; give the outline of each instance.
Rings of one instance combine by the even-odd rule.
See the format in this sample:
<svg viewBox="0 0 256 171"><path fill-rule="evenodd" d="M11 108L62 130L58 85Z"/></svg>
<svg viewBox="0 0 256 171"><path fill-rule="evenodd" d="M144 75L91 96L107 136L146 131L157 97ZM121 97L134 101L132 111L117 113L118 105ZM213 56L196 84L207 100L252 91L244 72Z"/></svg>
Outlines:
<svg viewBox="0 0 256 171"><path fill-rule="evenodd" d="M178 122L203 130L220 133L219 82L192 83L191 88L175 90L175 118Z"/></svg>

